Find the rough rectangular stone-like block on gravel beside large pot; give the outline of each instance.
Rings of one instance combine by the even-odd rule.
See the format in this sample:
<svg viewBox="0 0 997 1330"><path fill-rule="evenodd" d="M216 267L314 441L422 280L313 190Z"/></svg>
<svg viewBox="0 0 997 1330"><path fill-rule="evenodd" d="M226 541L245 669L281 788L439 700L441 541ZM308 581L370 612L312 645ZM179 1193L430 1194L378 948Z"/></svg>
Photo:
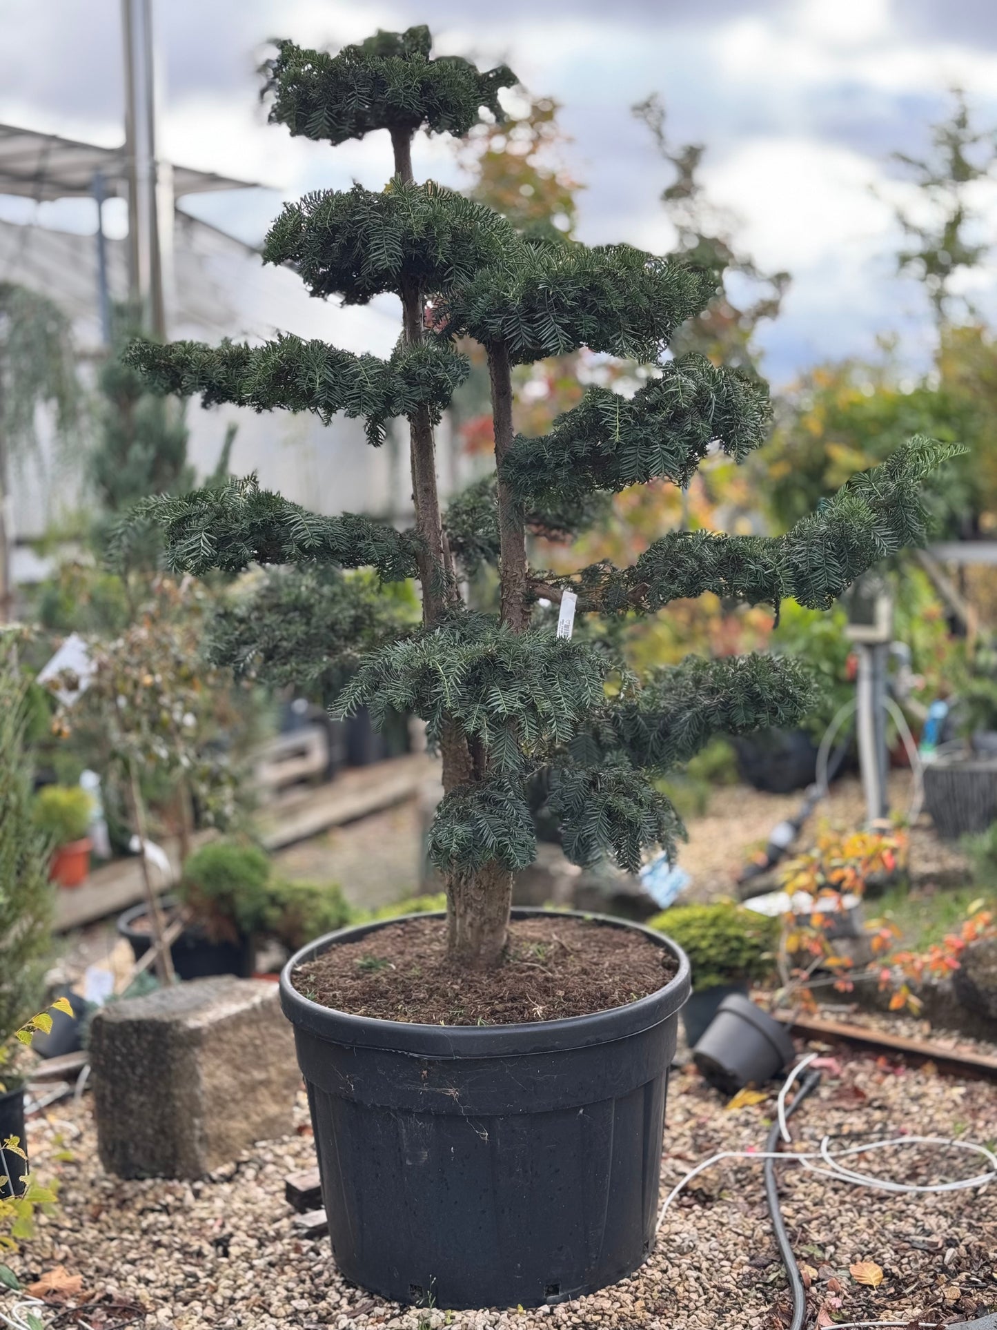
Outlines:
<svg viewBox="0 0 997 1330"><path fill-rule="evenodd" d="M300 1088L278 987L222 975L112 1003L90 1029L101 1164L201 1177L291 1130Z"/></svg>

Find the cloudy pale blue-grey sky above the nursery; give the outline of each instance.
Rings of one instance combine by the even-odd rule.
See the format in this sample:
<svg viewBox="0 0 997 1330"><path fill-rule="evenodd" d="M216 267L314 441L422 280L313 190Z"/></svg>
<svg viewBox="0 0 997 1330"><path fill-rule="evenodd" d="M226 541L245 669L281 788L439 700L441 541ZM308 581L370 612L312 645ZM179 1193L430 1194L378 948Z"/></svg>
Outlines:
<svg viewBox="0 0 997 1330"><path fill-rule="evenodd" d="M506 61L557 97L573 142L582 239L663 251L667 182L633 102L658 92L669 130L709 145L705 181L742 219L762 266L788 269L784 315L767 330L766 368L787 382L815 360L869 354L901 334L925 363L923 294L895 277L892 201L909 200L889 153L921 153L954 84L997 125L993 0L154 0L162 63L164 154L267 189L198 196L190 211L258 241L282 198L378 186L386 136L331 150L267 128L254 73L269 37L339 45L376 27L429 23L436 48ZM121 140L120 0L3 0L0 120L113 145ZM382 140L384 140L382 142ZM416 173L459 184L448 140L423 141ZM978 207L997 235L997 186ZM88 229L86 203L0 200L0 215ZM121 227L109 209L109 229ZM997 266L974 299L997 321Z"/></svg>

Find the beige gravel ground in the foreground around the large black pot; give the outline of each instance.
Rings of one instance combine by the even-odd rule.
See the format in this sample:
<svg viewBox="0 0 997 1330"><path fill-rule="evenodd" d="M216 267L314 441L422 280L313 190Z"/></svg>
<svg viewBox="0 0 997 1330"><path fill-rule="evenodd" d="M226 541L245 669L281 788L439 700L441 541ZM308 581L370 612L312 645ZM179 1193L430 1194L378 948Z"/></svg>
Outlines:
<svg viewBox="0 0 997 1330"><path fill-rule="evenodd" d="M816 1047L816 1045L811 1045ZM990 1142L993 1084L956 1080L889 1059L824 1051L819 1092L794 1119L798 1141L824 1133L885 1137L917 1130ZM774 1101L728 1111L695 1071L673 1075L662 1194L720 1149L760 1148ZM498 1330L542 1323L619 1330L779 1330L788 1323L786 1274L762 1198L760 1166L711 1169L671 1208L658 1249L631 1278L589 1298L536 1311L447 1315L382 1302L338 1275L327 1240L291 1229L286 1173L314 1162L307 1113L296 1133L255 1146L201 1182L122 1182L96 1158L88 1099L60 1105L29 1129L39 1176L61 1177L61 1208L12 1258L36 1279L62 1265L92 1295L56 1327L86 1323L171 1330ZM860 1133L855 1136L853 1133ZM70 1149L73 1158L55 1162ZM887 1152L893 1156L895 1152ZM917 1180L966 1176L966 1157L896 1152L883 1168ZM977 1172L976 1168L972 1172ZM780 1166L791 1241L810 1283L808 1326L837 1321L928 1319L945 1323L997 1309L997 1186L928 1197L855 1190ZM849 1274L859 1261L884 1271L879 1287ZM113 1301L112 1301L113 1299ZM3 1302L0 1301L0 1307Z"/></svg>

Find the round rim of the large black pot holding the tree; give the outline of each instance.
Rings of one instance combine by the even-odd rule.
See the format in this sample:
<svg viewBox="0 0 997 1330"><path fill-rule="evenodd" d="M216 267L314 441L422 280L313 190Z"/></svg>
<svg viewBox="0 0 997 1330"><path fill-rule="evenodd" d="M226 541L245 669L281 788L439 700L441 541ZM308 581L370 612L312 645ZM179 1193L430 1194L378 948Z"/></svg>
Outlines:
<svg viewBox="0 0 997 1330"><path fill-rule="evenodd" d="M646 998L610 1007L584 1016L564 1016L560 1020L537 1020L508 1025L429 1025L417 1021L384 1020L379 1016L358 1016L352 1012L323 1007L304 998L291 983L291 975L306 960L328 951L338 942L355 942L393 923L411 919L444 919L445 911L397 915L328 932L296 951L280 971L280 1005L284 1016L296 1029L330 1043L364 1048L387 1048L396 1052L431 1057L495 1057L524 1053L562 1052L606 1044L617 1039L641 1033L678 1015L690 992L690 967L686 954L665 934L646 928L629 919L592 914L582 910L544 910L514 906L513 919L546 916L554 919L585 919L613 928L633 928L645 934L657 946L665 947L678 960L678 972L661 988Z"/></svg>

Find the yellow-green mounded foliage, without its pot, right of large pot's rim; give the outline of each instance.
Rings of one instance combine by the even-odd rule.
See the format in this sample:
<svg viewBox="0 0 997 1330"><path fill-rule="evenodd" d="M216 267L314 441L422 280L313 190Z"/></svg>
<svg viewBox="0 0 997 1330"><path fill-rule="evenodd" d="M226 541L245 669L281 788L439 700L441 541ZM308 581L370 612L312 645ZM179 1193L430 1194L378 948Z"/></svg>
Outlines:
<svg viewBox="0 0 997 1330"><path fill-rule="evenodd" d="M650 927L667 934L685 951L699 991L764 979L772 971L779 920L732 900L675 906L655 915Z"/></svg>

